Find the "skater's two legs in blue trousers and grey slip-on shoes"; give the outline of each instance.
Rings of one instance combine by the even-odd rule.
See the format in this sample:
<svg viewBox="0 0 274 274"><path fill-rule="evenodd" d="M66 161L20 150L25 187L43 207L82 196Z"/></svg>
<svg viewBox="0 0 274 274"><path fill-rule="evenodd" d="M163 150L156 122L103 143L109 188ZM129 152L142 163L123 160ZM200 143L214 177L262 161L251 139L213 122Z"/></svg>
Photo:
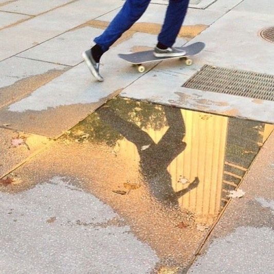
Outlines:
<svg viewBox="0 0 274 274"><path fill-rule="evenodd" d="M126 0L123 8L103 34L95 38L95 46L83 52L83 58L88 68L98 81L104 81L99 73L99 62L103 53L142 16L149 3L150 0ZM158 35L158 44L154 49L156 57L181 57L186 54L184 50L172 46L184 21L188 4L189 0L169 0L165 22Z"/></svg>

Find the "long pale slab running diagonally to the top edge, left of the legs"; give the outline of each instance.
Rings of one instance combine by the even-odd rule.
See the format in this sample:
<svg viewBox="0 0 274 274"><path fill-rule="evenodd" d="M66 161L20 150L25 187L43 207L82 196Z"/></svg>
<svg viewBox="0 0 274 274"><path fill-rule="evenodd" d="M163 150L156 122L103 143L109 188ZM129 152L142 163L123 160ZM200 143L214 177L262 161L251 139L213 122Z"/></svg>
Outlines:
<svg viewBox="0 0 274 274"><path fill-rule="evenodd" d="M79 0L0 31L0 61L118 8L119 0Z"/></svg>

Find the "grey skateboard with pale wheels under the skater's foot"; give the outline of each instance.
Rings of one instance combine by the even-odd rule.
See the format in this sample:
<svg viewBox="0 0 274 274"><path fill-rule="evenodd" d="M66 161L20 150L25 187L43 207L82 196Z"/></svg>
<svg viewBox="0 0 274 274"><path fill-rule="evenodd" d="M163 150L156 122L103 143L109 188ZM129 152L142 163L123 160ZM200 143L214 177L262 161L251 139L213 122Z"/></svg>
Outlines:
<svg viewBox="0 0 274 274"><path fill-rule="evenodd" d="M205 48L205 46L206 46L205 43L197 42L186 47L178 47L179 49L184 49L187 52L186 55L183 57L155 57L153 54L154 50L139 51L139 52L134 52L130 54L118 54L118 56L122 58L123 60L138 66L139 72L144 72L145 67L142 64L157 62L157 61L162 61L167 59L177 58L180 60L185 60L186 65L190 66L192 65L192 60L189 59L189 57L197 55L199 52L201 52Z"/></svg>

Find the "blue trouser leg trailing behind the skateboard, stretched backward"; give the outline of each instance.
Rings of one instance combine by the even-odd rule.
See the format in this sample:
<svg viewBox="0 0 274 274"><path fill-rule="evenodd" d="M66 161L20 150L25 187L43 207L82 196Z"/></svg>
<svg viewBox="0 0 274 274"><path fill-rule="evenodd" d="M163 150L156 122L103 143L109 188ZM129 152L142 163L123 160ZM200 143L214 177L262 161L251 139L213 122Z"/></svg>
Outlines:
<svg viewBox="0 0 274 274"><path fill-rule="evenodd" d="M108 25L105 31L95 38L103 51L107 51L121 35L128 30L145 12L151 0L126 0L120 12Z"/></svg>

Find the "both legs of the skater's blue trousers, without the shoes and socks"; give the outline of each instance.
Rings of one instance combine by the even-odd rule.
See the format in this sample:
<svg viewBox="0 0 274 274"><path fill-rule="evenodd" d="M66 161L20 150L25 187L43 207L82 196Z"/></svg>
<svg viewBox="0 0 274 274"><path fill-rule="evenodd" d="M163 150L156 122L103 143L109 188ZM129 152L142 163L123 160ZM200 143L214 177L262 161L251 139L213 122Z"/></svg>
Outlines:
<svg viewBox="0 0 274 274"><path fill-rule="evenodd" d="M142 16L148 8L150 1L126 0L114 20L108 25L102 35L95 38L94 42L103 51L107 51ZM173 46L182 22L184 22L188 4L189 0L169 0L165 22L158 36L158 42L167 47Z"/></svg>

